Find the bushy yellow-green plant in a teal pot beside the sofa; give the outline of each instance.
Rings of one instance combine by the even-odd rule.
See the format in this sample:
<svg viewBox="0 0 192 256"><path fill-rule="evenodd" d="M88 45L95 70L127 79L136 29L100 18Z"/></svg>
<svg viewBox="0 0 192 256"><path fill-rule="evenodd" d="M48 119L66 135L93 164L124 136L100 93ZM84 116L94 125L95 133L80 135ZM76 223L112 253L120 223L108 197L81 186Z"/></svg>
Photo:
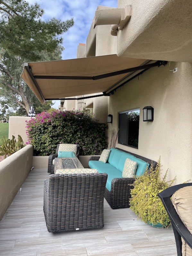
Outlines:
<svg viewBox="0 0 192 256"><path fill-rule="evenodd" d="M145 171L143 175L135 177L134 188L131 190L130 208L138 215L138 219L141 218L145 223L155 227L170 225L169 216L157 196L159 192L170 187L176 179L166 181L167 172L168 170L161 179L161 159L159 159L156 167L150 172Z"/></svg>

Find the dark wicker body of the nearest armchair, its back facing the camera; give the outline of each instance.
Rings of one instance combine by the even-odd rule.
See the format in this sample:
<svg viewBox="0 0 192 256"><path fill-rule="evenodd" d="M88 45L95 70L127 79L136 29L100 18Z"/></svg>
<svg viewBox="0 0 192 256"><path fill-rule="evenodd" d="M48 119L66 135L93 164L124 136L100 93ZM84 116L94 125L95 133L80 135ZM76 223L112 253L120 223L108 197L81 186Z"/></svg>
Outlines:
<svg viewBox="0 0 192 256"><path fill-rule="evenodd" d="M43 206L48 232L103 227L106 181L106 173L49 175Z"/></svg>

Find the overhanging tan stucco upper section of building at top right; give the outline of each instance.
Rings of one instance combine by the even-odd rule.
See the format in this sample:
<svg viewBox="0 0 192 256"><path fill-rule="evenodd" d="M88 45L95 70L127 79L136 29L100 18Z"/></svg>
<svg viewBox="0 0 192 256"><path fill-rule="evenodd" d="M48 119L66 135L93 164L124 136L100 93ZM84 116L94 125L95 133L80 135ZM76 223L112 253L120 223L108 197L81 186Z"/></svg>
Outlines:
<svg viewBox="0 0 192 256"><path fill-rule="evenodd" d="M192 1L118 0L126 5L132 15L118 31L118 56L192 62Z"/></svg>

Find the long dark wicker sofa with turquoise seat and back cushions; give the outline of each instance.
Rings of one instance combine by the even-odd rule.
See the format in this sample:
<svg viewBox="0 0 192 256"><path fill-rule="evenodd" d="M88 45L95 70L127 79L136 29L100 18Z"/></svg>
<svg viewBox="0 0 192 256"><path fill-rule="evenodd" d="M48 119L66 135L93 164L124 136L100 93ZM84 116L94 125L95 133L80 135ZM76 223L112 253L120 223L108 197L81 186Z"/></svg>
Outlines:
<svg viewBox="0 0 192 256"><path fill-rule="evenodd" d="M143 172L146 169L148 163L148 171L155 168L157 162L152 161L141 155L137 155L120 148L110 149L109 159L106 163L98 161L100 156L91 156L89 158L89 167L92 169L97 169L99 173L105 172L108 174L108 179L105 188L105 199L109 203L112 209L129 207L129 199L131 197L130 191L133 188L134 178L123 178L122 170L124 168L124 163L126 158L134 159L136 162L144 163L144 168L138 164L136 176L142 175L141 168Z"/></svg>

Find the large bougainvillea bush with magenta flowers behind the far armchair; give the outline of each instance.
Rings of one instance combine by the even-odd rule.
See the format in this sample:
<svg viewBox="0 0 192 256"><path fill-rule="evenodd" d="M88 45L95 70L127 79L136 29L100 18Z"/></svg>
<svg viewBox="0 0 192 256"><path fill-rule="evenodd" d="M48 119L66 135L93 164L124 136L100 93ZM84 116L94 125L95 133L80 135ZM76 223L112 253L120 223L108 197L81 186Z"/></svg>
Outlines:
<svg viewBox="0 0 192 256"><path fill-rule="evenodd" d="M80 155L98 154L107 147L107 125L97 123L84 111L42 112L26 123L27 144L41 156L54 154L58 143L80 144Z"/></svg>

